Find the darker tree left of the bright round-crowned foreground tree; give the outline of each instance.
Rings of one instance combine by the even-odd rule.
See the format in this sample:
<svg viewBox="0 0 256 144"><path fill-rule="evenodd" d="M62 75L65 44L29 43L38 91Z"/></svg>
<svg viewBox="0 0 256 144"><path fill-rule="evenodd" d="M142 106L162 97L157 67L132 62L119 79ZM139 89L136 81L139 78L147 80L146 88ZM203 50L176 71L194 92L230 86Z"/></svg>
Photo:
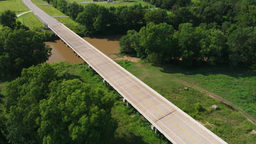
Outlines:
<svg viewBox="0 0 256 144"><path fill-rule="evenodd" d="M11 143L41 143L36 134L39 101L46 98L48 85L55 79L55 70L44 63L24 69L21 77L9 83L3 99L3 115Z"/></svg>

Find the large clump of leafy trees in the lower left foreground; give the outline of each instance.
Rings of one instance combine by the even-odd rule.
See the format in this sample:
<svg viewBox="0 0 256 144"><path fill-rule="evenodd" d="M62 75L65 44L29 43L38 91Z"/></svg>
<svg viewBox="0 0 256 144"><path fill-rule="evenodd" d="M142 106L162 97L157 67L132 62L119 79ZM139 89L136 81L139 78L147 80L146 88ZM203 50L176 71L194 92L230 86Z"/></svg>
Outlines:
<svg viewBox="0 0 256 144"><path fill-rule="evenodd" d="M112 143L113 94L79 79L60 80L58 75L44 63L24 69L9 83L3 98L7 139L11 143Z"/></svg>

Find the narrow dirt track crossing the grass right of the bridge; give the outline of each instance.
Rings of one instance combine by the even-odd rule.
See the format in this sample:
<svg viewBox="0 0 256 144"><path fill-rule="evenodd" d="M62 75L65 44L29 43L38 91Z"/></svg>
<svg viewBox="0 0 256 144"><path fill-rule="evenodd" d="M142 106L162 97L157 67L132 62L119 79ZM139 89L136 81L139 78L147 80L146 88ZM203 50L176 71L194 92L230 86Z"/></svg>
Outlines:
<svg viewBox="0 0 256 144"><path fill-rule="evenodd" d="M235 111L238 111L239 113L241 113L241 115L243 115L244 117L246 117L246 119L253 123L254 125L256 125L256 122L255 122L255 119L251 116L248 115L248 113L246 113L245 111L243 111L242 109L240 109L239 107L233 105L232 103L230 103L228 100L225 100L224 98L220 97L219 95L217 94L213 94L209 91L206 91L205 89L201 88L201 87L198 87L198 86L195 86L195 85L191 85L190 83L188 82L185 82L185 81L182 81L182 80L177 80L177 82L179 83L182 83L183 85L186 85L186 86L189 86L189 87L192 87L194 89L196 89L197 91L200 91L202 93L205 93L207 95L209 95L210 97L214 98L214 99L217 99L219 101L221 101L223 104L225 104L226 106L228 106L230 109L232 110L235 110Z"/></svg>

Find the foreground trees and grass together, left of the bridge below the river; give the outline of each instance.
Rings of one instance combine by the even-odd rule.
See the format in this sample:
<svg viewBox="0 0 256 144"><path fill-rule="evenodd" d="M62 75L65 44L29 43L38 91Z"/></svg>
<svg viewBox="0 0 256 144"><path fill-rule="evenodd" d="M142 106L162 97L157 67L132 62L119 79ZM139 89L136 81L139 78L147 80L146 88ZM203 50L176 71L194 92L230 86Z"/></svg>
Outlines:
<svg viewBox="0 0 256 144"><path fill-rule="evenodd" d="M40 64L4 87L0 129L10 143L166 143L87 65Z"/></svg>

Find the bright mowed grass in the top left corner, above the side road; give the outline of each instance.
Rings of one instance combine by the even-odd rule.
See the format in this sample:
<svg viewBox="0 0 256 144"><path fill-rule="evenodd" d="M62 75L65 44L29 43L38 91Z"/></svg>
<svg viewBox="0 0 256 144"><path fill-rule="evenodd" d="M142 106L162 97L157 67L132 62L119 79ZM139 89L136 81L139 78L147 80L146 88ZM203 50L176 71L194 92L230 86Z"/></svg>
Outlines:
<svg viewBox="0 0 256 144"><path fill-rule="evenodd" d="M0 1L0 13L8 9L15 11L16 14L21 14L29 10L21 0Z"/></svg>

